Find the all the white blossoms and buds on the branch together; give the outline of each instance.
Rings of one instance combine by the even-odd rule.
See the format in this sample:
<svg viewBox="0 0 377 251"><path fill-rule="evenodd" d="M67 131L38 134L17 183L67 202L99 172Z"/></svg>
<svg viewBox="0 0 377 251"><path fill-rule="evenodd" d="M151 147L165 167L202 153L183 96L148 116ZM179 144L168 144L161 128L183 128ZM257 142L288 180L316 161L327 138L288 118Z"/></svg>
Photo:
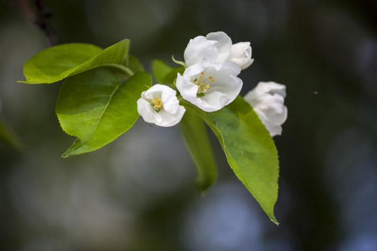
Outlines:
<svg viewBox="0 0 377 251"><path fill-rule="evenodd" d="M215 112L237 98L243 84L237 76L253 63L250 43L232 44L222 31L191 39L184 50L184 61L186 69L177 75L177 90L184 100L205 112ZM245 97L271 135L281 134L281 123L286 120L285 86L281 86L260 83ZM148 123L174 126L185 112L175 95L170 87L156 84L142 93L138 112Z"/></svg>

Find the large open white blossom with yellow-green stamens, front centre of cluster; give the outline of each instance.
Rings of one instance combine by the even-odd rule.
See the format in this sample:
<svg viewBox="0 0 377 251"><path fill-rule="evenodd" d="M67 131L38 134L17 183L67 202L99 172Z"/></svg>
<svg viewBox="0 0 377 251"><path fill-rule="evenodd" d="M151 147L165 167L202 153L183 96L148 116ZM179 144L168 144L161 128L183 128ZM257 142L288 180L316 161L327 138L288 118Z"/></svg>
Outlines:
<svg viewBox="0 0 377 251"><path fill-rule="evenodd" d="M221 65L204 59L177 75L176 86L182 98L205 112L214 112L230 104L242 89L237 77L241 69L226 61Z"/></svg>

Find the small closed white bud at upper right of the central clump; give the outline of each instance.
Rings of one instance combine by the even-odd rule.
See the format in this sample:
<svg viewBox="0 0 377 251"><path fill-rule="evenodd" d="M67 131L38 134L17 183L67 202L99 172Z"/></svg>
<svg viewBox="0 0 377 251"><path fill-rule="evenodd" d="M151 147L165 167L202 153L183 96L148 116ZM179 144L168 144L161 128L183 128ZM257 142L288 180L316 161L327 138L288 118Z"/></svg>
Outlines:
<svg viewBox="0 0 377 251"><path fill-rule="evenodd" d="M251 59L250 42L240 42L232 45L228 60L241 67L241 70L248 68L254 61L254 59Z"/></svg>

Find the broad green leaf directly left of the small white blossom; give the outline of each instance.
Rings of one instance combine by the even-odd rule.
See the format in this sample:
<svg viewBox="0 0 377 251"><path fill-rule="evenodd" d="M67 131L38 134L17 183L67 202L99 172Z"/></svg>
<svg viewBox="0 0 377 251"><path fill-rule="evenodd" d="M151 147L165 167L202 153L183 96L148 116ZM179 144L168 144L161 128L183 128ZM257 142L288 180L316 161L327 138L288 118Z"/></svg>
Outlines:
<svg viewBox="0 0 377 251"><path fill-rule="evenodd" d="M77 139L62 157L99 149L131 128L139 117L136 102L150 86L148 73L121 83L105 68L66 79L56 112L61 128Z"/></svg>

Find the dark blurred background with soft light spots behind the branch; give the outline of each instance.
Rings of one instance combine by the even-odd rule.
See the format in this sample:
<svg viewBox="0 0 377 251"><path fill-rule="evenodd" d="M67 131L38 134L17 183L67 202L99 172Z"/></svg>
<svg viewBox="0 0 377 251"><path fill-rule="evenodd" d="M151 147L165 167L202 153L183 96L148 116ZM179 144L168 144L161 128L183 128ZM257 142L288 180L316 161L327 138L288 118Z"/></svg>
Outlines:
<svg viewBox="0 0 377 251"><path fill-rule="evenodd" d="M177 126L139 119L103 149L63 159L74 138L54 114L61 83L17 83L51 43L129 38L149 70L212 31L251 42L242 94L287 86L274 137L279 226L213 135L219 179L200 196ZM376 35L372 0L0 1L0 119L24 144L0 143L0 250L377 250Z"/></svg>

